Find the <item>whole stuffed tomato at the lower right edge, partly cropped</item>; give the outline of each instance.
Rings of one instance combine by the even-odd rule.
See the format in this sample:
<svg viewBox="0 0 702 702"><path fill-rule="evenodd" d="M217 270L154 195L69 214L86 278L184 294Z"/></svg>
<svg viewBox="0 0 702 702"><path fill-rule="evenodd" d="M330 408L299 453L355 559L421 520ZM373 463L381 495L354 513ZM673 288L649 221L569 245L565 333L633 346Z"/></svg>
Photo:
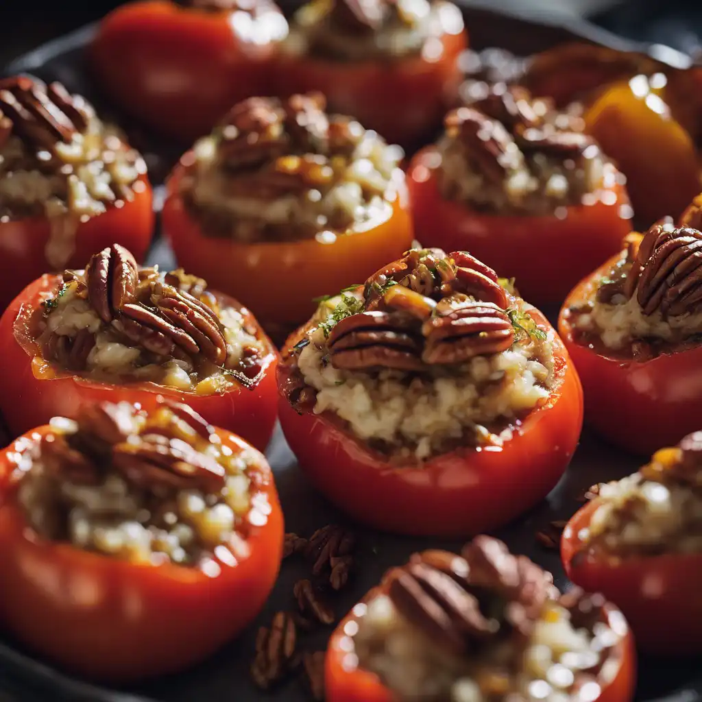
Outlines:
<svg viewBox="0 0 702 702"><path fill-rule="evenodd" d="M634 475L600 485L564 531L571 579L616 602L648 651L702 651L701 486L702 432L694 432Z"/></svg>

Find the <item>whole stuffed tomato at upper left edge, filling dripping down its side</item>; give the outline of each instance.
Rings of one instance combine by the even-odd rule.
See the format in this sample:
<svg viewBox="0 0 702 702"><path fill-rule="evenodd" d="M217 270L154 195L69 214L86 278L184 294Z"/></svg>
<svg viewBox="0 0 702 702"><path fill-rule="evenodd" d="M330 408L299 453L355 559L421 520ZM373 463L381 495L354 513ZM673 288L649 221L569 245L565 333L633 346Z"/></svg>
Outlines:
<svg viewBox="0 0 702 702"><path fill-rule="evenodd" d="M3 307L47 270L85 265L113 237L144 255L153 222L146 166L84 98L60 83L8 78L0 116Z"/></svg>

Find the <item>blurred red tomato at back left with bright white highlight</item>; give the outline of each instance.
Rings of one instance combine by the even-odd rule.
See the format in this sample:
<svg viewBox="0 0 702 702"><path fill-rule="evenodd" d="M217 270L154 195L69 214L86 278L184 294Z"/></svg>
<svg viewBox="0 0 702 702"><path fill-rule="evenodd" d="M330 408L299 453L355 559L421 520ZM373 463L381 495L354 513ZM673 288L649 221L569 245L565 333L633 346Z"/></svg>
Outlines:
<svg viewBox="0 0 702 702"><path fill-rule="evenodd" d="M270 61L286 33L277 11L254 14L251 22L245 12L147 0L102 20L92 58L114 102L159 133L188 143L208 133L239 100L270 93Z"/></svg>

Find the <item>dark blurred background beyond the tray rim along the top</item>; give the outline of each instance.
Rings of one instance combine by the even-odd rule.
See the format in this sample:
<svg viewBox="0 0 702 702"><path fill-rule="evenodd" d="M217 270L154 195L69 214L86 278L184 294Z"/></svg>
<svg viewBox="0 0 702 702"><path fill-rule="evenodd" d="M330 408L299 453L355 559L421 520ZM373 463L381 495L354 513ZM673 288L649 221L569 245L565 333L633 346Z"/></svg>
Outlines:
<svg viewBox="0 0 702 702"><path fill-rule="evenodd" d="M510 4L494 0L490 5L499 7L502 2ZM552 3L562 10L562 0ZM0 8L0 67L44 41L99 19L120 4L115 0L0 0L4 6ZM690 0L613 0L612 4L616 6L611 10L589 19L633 39L668 44L686 53L700 50L701 4ZM530 5L529 0L522 0L517 6L520 12L528 13Z"/></svg>

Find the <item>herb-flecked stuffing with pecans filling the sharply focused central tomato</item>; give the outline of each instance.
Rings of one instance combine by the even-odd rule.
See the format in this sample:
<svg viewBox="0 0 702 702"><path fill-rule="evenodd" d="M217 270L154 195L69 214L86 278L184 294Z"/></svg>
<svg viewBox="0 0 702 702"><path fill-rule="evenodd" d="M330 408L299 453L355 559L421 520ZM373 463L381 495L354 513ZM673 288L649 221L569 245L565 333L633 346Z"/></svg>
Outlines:
<svg viewBox="0 0 702 702"><path fill-rule="evenodd" d="M304 386L291 401L397 458L499 444L554 383L531 309L466 253L409 251L319 305L288 361Z"/></svg>

